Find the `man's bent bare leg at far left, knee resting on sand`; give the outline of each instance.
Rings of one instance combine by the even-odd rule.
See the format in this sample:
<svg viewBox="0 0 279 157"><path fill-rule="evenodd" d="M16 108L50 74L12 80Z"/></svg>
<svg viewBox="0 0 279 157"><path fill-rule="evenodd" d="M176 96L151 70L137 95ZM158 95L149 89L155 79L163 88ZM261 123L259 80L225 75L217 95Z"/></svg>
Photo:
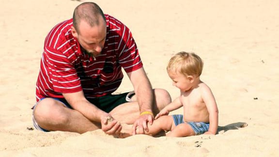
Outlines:
<svg viewBox="0 0 279 157"><path fill-rule="evenodd" d="M91 122L77 110L68 109L52 98L41 100L33 114L38 125L49 131L85 133L100 128L100 124Z"/></svg>

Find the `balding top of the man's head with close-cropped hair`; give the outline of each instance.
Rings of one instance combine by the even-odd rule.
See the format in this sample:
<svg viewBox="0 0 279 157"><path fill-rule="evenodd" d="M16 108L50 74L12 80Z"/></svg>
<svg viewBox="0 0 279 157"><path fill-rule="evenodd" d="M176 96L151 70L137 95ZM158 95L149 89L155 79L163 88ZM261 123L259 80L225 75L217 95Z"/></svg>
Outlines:
<svg viewBox="0 0 279 157"><path fill-rule="evenodd" d="M88 23L91 27L95 25L99 25L100 21L99 16L101 16L101 19L104 19L106 22L106 17L104 16L104 13L102 9L93 2L84 2L79 4L73 15L73 25L76 31L79 33L79 24L81 20L84 20L86 23Z"/></svg>

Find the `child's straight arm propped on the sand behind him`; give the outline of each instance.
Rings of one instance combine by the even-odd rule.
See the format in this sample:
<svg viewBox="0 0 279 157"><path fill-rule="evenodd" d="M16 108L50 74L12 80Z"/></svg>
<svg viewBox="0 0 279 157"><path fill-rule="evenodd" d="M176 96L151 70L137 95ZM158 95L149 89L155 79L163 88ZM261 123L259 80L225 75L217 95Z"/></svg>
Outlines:
<svg viewBox="0 0 279 157"><path fill-rule="evenodd" d="M218 108L213 93L208 86L202 89L202 99L209 113L209 129L204 134L216 134L218 128Z"/></svg>

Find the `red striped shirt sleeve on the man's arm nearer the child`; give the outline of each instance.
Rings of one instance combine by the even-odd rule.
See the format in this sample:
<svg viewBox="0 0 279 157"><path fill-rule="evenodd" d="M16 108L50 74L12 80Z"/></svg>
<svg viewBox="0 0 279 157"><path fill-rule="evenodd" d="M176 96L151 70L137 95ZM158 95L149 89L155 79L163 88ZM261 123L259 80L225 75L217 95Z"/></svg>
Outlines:
<svg viewBox="0 0 279 157"><path fill-rule="evenodd" d="M128 73L140 69L143 65L131 31L125 25L123 26L122 38L119 45L119 63L125 72Z"/></svg>

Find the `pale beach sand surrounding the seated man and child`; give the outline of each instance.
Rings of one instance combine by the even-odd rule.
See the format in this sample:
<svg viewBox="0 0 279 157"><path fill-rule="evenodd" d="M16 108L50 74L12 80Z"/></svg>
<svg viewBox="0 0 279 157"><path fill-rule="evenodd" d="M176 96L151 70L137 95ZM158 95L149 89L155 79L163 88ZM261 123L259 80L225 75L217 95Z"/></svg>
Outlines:
<svg viewBox="0 0 279 157"><path fill-rule="evenodd" d="M125 139L101 130L32 130L44 39L82 1L0 2L0 157L279 156L278 0L95 0L130 28L153 88L168 90L172 99L179 90L167 75L167 62L179 51L200 55L201 79L219 109L215 136ZM131 90L125 76L116 93Z"/></svg>

